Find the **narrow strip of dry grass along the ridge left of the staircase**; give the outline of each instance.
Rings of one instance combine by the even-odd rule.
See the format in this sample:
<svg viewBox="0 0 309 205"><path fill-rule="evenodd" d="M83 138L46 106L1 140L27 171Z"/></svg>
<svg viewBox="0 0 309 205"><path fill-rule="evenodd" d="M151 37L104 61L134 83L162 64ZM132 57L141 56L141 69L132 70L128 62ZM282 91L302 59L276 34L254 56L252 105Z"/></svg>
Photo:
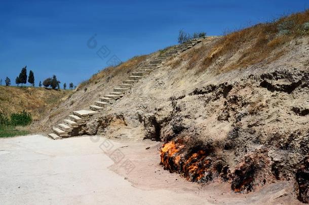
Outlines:
<svg viewBox="0 0 309 205"><path fill-rule="evenodd" d="M79 85L78 90L88 86L89 84L97 84L102 79L108 81L110 78L118 75L121 72L129 73L134 68L136 68L136 66L142 63L146 59L146 57L146 55L136 56L118 66L110 66L104 68L101 71L93 74L90 79L83 81Z"/></svg>

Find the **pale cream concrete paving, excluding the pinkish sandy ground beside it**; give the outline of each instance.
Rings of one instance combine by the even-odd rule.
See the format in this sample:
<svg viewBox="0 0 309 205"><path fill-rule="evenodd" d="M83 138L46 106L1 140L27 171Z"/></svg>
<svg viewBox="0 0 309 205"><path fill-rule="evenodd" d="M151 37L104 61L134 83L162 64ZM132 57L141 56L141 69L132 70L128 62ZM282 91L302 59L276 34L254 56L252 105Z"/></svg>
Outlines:
<svg viewBox="0 0 309 205"><path fill-rule="evenodd" d="M0 204L206 202L192 194L131 186L108 169L113 161L99 145L89 137L51 140L33 135L0 139Z"/></svg>

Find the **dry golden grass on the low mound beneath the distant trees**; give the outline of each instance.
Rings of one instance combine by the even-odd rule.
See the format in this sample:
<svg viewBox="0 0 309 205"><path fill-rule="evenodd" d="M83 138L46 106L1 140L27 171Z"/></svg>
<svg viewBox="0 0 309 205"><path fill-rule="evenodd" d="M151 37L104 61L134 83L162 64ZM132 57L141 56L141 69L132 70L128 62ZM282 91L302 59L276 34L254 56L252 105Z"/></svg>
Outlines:
<svg viewBox="0 0 309 205"><path fill-rule="evenodd" d="M0 86L0 112L10 115L25 110L31 113L33 120L37 120L67 98L71 92Z"/></svg>

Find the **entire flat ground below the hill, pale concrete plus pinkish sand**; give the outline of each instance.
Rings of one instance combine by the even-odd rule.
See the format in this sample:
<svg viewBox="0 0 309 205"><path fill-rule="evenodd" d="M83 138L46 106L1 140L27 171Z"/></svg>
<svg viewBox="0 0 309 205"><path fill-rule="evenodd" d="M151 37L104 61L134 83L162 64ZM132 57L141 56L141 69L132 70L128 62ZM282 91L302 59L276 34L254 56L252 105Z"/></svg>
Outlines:
<svg viewBox="0 0 309 205"><path fill-rule="evenodd" d="M296 204L280 182L250 194L202 186L159 165L158 142L0 139L0 204ZM147 149L146 149L147 148Z"/></svg>

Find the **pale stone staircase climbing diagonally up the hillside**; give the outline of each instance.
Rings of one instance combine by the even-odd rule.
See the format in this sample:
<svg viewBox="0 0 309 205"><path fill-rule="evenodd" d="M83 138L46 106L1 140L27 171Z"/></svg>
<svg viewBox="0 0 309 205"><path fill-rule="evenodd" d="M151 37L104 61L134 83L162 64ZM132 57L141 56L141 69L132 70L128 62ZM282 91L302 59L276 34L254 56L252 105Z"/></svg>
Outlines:
<svg viewBox="0 0 309 205"><path fill-rule="evenodd" d="M63 119L60 124L54 126L53 133L48 134L48 136L56 140L81 135L83 133L83 128L86 127L87 121L89 121L93 115L104 110L105 107L110 106L116 100L122 98L124 94L128 92L141 78L149 75L151 71L160 68L170 58L194 47L202 41L203 38L192 39L183 44L169 48L160 57L151 59L148 65L143 65L137 68L137 70L131 73L128 79L123 80L122 84L115 87L112 92L100 97L98 101L95 101L93 105L90 105L90 110L73 111L73 113Z"/></svg>

